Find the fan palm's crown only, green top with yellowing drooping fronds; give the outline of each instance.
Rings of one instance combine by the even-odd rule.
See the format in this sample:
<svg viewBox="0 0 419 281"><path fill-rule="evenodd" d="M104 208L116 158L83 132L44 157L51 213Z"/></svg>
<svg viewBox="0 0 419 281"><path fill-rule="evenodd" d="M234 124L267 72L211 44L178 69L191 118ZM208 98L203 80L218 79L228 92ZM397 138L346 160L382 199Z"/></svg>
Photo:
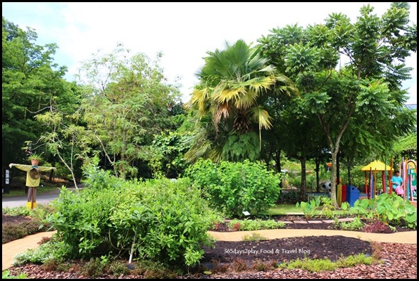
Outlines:
<svg viewBox="0 0 419 281"><path fill-rule="evenodd" d="M207 52L205 65L197 73L200 84L190 102L201 116L212 115L215 132L222 126L245 134L256 123L261 143L261 130L272 127L271 117L263 108L266 97L298 92L259 51L239 40L232 46L226 43L223 51Z"/></svg>

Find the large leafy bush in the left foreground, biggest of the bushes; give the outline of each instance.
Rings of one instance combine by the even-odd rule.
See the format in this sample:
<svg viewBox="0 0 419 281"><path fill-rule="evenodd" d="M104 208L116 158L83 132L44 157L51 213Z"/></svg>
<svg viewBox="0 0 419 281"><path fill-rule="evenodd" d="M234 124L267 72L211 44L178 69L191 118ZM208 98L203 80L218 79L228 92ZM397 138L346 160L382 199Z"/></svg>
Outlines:
<svg viewBox="0 0 419 281"><path fill-rule="evenodd" d="M188 179L122 181L90 168L89 189L62 190L49 220L70 258L126 253L194 265L216 217Z"/></svg>

